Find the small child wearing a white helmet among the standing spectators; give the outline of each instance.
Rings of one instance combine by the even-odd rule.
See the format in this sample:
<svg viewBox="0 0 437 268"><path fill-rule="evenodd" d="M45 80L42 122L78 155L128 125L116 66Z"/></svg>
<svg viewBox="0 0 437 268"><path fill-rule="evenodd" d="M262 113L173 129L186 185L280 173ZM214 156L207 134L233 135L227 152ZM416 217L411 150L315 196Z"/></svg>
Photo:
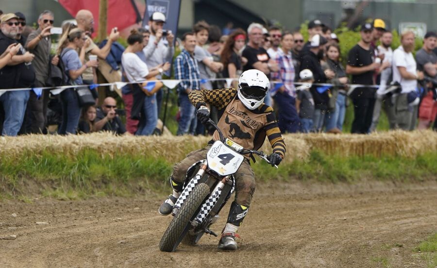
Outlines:
<svg viewBox="0 0 437 268"><path fill-rule="evenodd" d="M308 133L313 128L314 100L310 88L314 82L313 73L309 69L303 69L299 73L300 82L303 84L296 88L296 110L302 124L302 132Z"/></svg>

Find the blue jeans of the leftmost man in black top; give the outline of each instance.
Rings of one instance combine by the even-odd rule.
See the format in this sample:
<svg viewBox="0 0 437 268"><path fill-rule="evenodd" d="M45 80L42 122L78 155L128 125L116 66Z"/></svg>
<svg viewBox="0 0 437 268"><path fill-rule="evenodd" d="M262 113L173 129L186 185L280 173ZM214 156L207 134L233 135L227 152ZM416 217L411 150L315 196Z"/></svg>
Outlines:
<svg viewBox="0 0 437 268"><path fill-rule="evenodd" d="M28 100L28 90L7 91L0 96L0 102L3 103L4 109L2 136L17 136L23 124Z"/></svg>

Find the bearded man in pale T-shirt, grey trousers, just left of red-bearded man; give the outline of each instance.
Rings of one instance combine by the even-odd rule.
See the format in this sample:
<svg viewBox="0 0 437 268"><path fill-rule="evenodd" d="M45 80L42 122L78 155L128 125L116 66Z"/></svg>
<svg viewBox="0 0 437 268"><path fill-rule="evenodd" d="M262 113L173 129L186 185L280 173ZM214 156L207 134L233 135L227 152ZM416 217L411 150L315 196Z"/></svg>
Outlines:
<svg viewBox="0 0 437 268"><path fill-rule="evenodd" d="M380 82L379 88L376 91L376 102L373 108L373 118L372 125L370 126L370 132L375 131L376 126L378 126L379 116L381 114L381 106L384 105L384 110L386 111L388 117L388 124L390 129L393 129L396 124L396 117L394 112L394 106L391 102L392 93L385 94L387 85L391 82L391 62L393 59L393 50L391 49L391 42L393 40L393 35L391 32L384 32L381 36L381 45L378 46L378 51L380 55L384 55L384 60L380 68Z"/></svg>

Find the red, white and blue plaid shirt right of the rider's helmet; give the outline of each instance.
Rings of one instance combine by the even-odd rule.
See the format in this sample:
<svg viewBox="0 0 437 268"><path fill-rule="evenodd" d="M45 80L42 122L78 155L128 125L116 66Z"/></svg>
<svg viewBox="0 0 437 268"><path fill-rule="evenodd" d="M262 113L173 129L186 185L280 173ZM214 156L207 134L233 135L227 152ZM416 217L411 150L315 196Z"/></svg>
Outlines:
<svg viewBox="0 0 437 268"><path fill-rule="evenodd" d="M284 83L286 93L292 97L296 97L296 89L294 88L294 65L291 52L288 51L287 54L284 53L282 49L279 49L278 54L275 58L276 63L278 63L279 71L271 74L272 80L279 80ZM275 88L274 86L272 87ZM274 95L276 91L272 91Z"/></svg>

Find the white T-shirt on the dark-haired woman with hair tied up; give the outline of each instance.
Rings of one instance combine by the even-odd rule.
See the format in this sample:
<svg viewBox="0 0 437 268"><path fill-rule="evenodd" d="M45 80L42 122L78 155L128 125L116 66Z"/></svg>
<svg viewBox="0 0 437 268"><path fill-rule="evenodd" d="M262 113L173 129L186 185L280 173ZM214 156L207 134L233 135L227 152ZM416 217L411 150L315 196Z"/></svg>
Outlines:
<svg viewBox="0 0 437 268"><path fill-rule="evenodd" d="M121 55L121 65L123 65L124 72L129 82L143 82L145 77L149 74L149 68L146 63L135 53L123 53Z"/></svg>

